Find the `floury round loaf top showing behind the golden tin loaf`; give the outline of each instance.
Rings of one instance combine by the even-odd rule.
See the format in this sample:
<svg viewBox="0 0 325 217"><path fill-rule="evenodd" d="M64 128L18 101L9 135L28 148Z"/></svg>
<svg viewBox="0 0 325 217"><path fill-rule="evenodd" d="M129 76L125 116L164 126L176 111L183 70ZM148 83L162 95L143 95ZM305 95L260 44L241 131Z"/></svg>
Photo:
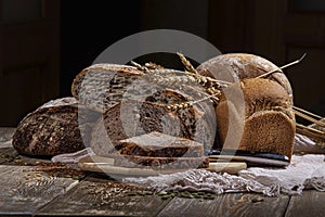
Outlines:
<svg viewBox="0 0 325 217"><path fill-rule="evenodd" d="M289 80L275 64L269 60L249 53L229 53L212 58L197 68L202 75L230 82L244 78L255 78L271 71L277 71L268 76L285 88L290 98L292 89Z"/></svg>

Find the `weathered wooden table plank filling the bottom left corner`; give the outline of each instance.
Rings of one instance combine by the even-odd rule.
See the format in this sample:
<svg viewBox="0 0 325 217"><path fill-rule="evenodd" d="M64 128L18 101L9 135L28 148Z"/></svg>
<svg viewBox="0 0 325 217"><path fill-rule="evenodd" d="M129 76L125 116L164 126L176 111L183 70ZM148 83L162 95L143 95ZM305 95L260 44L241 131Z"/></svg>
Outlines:
<svg viewBox="0 0 325 217"><path fill-rule="evenodd" d="M35 167L0 165L0 216L31 216L78 181L51 177Z"/></svg>

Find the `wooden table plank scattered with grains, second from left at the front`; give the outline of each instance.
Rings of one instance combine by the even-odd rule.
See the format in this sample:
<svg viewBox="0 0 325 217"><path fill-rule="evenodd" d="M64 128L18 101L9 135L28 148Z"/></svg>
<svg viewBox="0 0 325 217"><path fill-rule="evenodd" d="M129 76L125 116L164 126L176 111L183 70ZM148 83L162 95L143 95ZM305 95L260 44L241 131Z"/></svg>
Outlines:
<svg viewBox="0 0 325 217"><path fill-rule="evenodd" d="M134 191L140 190L107 177L88 177L36 216L156 216L169 202L158 195L132 195Z"/></svg>

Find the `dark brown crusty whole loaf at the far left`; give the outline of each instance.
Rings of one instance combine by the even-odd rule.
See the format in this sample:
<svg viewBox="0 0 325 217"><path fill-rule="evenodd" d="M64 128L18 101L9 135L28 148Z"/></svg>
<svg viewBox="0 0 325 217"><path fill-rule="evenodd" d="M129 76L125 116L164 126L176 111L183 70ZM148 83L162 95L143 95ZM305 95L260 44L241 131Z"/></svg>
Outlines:
<svg viewBox="0 0 325 217"><path fill-rule="evenodd" d="M26 155L53 156L89 145L91 123L99 114L74 98L50 101L28 114L17 126L13 146Z"/></svg>

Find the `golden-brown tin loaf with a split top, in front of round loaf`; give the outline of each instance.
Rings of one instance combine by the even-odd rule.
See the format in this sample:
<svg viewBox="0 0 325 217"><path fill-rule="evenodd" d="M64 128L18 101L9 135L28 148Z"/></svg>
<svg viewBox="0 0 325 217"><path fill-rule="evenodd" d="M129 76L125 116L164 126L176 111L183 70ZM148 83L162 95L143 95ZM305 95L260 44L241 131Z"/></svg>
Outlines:
<svg viewBox="0 0 325 217"><path fill-rule="evenodd" d="M291 157L295 115L290 97L277 82L250 78L230 85L216 113L224 148Z"/></svg>

